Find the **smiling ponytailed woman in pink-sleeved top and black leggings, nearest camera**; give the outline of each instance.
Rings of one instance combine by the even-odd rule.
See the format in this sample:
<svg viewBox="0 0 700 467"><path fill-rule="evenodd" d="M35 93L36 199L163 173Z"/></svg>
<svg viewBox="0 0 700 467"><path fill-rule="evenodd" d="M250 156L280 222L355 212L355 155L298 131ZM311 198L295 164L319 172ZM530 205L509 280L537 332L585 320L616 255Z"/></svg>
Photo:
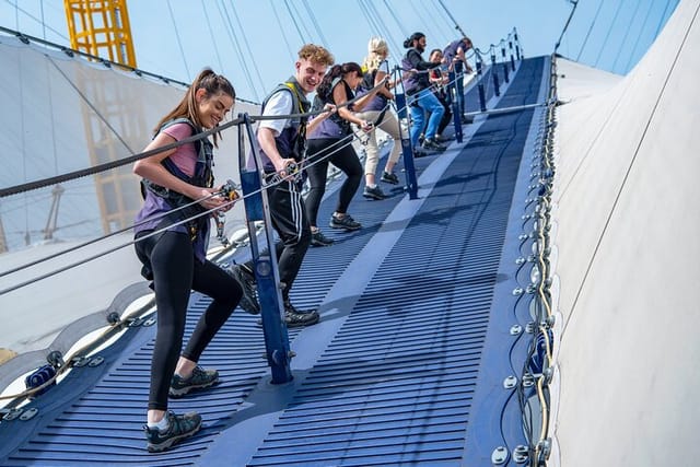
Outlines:
<svg viewBox="0 0 700 467"><path fill-rule="evenodd" d="M206 69L177 106L161 119L144 151L171 145L215 128L231 110L235 91L229 80ZM232 202L213 187L212 147L207 138L139 160L133 172L143 178L144 202L136 218L136 253L143 276L152 280L158 329L151 360L148 422L150 452L164 451L201 427L196 412L175 415L167 398L205 389L219 372L197 362L241 300L238 282L206 258L211 214ZM187 303L196 290L213 299L183 350ZM182 351L182 353L180 353Z"/></svg>

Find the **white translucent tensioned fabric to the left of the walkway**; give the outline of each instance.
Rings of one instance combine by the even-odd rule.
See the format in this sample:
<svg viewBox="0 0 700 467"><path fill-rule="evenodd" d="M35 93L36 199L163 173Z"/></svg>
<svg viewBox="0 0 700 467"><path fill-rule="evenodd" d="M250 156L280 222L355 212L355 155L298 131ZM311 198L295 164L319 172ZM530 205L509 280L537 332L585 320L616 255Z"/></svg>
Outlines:
<svg viewBox="0 0 700 467"><path fill-rule="evenodd" d="M158 120L179 102L186 89L25 44L13 36L0 36L0 69L2 188L139 153ZM232 114L235 117L245 112L257 115L258 107L238 102ZM218 182L240 180L237 154L237 129L232 127L219 144ZM139 179L130 165L0 199L0 245L4 246L0 250L5 249L0 253L0 271L126 230L69 255L4 275L0 290L128 243L140 203ZM54 211L52 205L57 207ZM242 203L230 211L228 221L228 234L243 226ZM210 246L217 244L215 240L210 242ZM120 290L139 281L139 270L133 247L127 246L1 294L0 348L12 353L40 353L69 324L96 313L95 319L88 319L70 334L66 345L72 343L77 336L105 324L103 312ZM63 345L58 347L67 350ZM45 359L39 355L37 362Z"/></svg>

